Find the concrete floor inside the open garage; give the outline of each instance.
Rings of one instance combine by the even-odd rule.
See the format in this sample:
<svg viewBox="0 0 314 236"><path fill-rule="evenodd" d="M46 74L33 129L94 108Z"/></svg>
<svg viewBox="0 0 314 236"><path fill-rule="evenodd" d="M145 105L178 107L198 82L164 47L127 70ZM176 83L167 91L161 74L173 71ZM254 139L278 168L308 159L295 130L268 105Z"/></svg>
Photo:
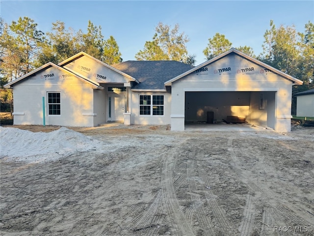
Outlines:
<svg viewBox="0 0 314 236"><path fill-rule="evenodd" d="M265 130L266 127L252 125L249 123L216 123L216 124L208 124L208 123L190 123L185 124L185 130L187 131L244 131L244 132L256 132L258 130ZM267 128L270 129L270 128ZM272 129L270 129L272 130Z"/></svg>

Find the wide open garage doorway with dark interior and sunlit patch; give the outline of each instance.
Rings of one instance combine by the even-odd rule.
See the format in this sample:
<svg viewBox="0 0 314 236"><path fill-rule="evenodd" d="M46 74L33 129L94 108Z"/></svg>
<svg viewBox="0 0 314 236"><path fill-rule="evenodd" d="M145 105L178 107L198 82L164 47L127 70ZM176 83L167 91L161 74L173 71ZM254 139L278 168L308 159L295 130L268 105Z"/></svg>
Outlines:
<svg viewBox="0 0 314 236"><path fill-rule="evenodd" d="M186 91L185 125L256 124L275 127L275 91Z"/></svg>

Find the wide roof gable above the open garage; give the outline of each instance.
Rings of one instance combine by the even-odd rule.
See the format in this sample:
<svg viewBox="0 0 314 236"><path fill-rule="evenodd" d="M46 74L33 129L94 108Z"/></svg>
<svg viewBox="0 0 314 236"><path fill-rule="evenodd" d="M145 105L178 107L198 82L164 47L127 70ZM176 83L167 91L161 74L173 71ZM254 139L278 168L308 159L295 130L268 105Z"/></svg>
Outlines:
<svg viewBox="0 0 314 236"><path fill-rule="evenodd" d="M242 61L247 61L247 63L238 63L237 66L234 66L234 68L231 68L230 66L228 66L228 64L226 63L221 63L223 61L223 59L225 58L228 58L228 57L231 57L231 55L236 55L240 58L242 58L243 60ZM199 74L204 74L204 73L207 73L206 70L208 70L208 66L210 65L218 65L220 64L220 67L218 68L215 68L213 69L212 74L239 74L239 73L245 73L245 74L253 74L253 71L252 71L252 66L247 66L245 67L245 64L249 65L249 64L254 64L254 65L257 65L257 68L255 68L255 72L256 74L260 73L265 73L265 74L276 74L276 75L279 75L281 77L283 77L284 79L286 80L289 80L291 81L292 83L295 83L296 85L302 85L303 82L280 71L280 70L277 70L275 69L274 67L270 66L270 65L267 65L265 63L263 63L262 61L260 60L257 60L257 59L254 59L234 48L230 49L229 51L225 52L225 53L222 53L220 55L218 55L217 57L213 58L213 59L210 59L196 67L194 67L193 69L191 70L188 70L186 72L184 72L183 74L177 76L177 77L174 77L173 79L169 80L169 81L166 81L164 84L166 86L171 86L171 84L177 80L180 80L182 79L183 77L187 76L187 75L190 75L192 73L199 73ZM259 69L259 71L256 71L256 69ZM253 67L253 70L254 70L254 67Z"/></svg>

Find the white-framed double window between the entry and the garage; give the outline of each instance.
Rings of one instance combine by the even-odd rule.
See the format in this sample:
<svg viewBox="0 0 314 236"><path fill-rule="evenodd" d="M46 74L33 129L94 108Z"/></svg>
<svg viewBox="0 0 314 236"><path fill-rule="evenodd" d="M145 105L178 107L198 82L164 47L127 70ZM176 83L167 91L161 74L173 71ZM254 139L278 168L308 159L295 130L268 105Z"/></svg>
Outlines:
<svg viewBox="0 0 314 236"><path fill-rule="evenodd" d="M139 95L139 115L163 116L164 95Z"/></svg>

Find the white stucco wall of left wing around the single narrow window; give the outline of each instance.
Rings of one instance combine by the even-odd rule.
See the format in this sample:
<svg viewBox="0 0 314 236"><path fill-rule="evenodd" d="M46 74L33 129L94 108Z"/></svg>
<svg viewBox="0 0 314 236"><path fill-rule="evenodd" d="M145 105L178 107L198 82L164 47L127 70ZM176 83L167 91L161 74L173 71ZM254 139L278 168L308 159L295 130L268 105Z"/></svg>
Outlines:
<svg viewBox="0 0 314 236"><path fill-rule="evenodd" d="M48 115L48 92L60 92L61 115ZM70 74L51 67L36 73L13 88L14 124L43 124L45 97L46 125L93 126L93 89ZM22 115L24 114L24 115Z"/></svg>

